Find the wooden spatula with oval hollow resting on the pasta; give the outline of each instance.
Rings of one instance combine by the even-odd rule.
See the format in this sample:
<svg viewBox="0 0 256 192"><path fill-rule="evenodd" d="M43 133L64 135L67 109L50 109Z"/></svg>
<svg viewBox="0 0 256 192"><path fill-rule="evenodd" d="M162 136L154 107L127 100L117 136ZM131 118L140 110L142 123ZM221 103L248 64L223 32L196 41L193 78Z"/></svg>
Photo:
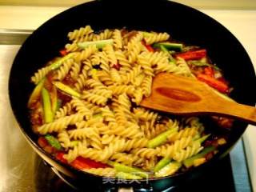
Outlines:
<svg viewBox="0 0 256 192"><path fill-rule="evenodd" d="M226 100L206 83L174 74L156 75L150 97L140 106L171 114L228 116L256 125L255 107Z"/></svg>

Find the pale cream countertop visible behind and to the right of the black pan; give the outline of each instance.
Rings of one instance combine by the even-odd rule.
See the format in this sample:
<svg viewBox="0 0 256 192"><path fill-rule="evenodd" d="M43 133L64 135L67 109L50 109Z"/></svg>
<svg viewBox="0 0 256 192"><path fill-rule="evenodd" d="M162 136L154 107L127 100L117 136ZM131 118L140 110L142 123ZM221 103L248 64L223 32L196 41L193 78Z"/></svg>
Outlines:
<svg viewBox="0 0 256 192"><path fill-rule="evenodd" d="M34 30L67 7L0 6L0 29ZM238 38L256 69L256 10L201 10L221 22ZM255 85L252 85L255 87ZM256 191L256 127L249 126L243 135L250 179Z"/></svg>

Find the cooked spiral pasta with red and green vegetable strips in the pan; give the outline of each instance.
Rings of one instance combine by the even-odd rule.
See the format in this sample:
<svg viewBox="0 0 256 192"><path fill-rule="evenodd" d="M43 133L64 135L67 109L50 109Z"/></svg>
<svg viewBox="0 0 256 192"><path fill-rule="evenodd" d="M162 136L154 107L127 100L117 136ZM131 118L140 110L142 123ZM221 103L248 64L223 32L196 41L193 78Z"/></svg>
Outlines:
<svg viewBox="0 0 256 192"><path fill-rule="evenodd" d="M198 117L139 106L162 72L198 78L229 94L206 49L166 32L125 28L95 33L85 26L67 38L60 56L31 78L35 88L28 102L38 144L58 161L106 177L164 177L201 165L226 143Z"/></svg>

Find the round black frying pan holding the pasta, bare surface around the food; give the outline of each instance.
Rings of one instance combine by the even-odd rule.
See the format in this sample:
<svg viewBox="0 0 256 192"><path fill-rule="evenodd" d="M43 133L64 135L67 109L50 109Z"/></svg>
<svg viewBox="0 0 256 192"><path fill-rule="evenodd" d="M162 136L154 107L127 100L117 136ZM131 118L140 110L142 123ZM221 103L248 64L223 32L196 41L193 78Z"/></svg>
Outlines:
<svg viewBox="0 0 256 192"><path fill-rule="evenodd" d="M104 189L108 185L118 186L123 183L118 184L114 179L112 180L114 184L112 182L103 184L102 177L74 170L62 162L57 162L50 154L46 154L37 144L38 136L31 129L29 112L26 107L34 88L30 83L30 77L65 46L68 40L66 34L69 31L86 25L92 26L95 31L123 26L126 26L128 30L166 31L172 38L186 42L188 45L204 47L234 87L230 97L247 105L254 106L255 104L256 93L251 85L255 85L256 78L246 50L229 30L198 10L164 0L102 0L74 6L58 14L35 30L18 51L10 70L10 103L22 133L34 150L54 169L74 178L78 183L82 183L82 186L86 186L86 190L89 190L89 186L101 186ZM246 126L244 122L234 122L227 144L214 158L202 166L174 176L141 180L139 184L127 182L127 185L146 186L148 189L153 188L157 191L182 184L205 172L207 174L210 166L216 165L219 159L229 153L246 130Z"/></svg>

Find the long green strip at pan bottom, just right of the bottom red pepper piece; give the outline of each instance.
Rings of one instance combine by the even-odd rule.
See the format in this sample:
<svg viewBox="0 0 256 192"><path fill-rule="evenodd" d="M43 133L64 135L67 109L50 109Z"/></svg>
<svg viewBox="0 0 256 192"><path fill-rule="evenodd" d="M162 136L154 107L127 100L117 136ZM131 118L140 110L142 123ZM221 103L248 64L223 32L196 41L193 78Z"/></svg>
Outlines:
<svg viewBox="0 0 256 192"><path fill-rule="evenodd" d="M121 163L111 162L111 161L108 161L107 164L109 166L113 166L115 170L125 172L125 173L130 173L130 174L136 174L142 178L148 178L148 174L144 170L139 169L137 167L125 166L125 165L122 165Z"/></svg>

